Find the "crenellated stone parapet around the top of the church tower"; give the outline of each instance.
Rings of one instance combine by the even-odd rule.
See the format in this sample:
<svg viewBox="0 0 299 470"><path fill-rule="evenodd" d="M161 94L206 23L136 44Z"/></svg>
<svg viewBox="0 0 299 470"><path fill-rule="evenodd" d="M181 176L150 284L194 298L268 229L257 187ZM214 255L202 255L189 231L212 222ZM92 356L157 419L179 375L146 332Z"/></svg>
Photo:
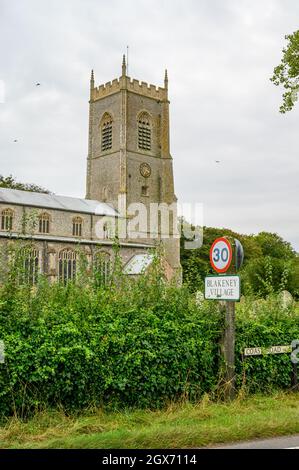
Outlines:
<svg viewBox="0 0 299 470"><path fill-rule="evenodd" d="M118 93L121 90L128 90L138 95L154 98L155 100L167 100L167 88L156 87L155 85L146 82L140 82L130 77L120 77L107 82L104 85L94 87L91 89L91 101L97 101L106 96Z"/></svg>

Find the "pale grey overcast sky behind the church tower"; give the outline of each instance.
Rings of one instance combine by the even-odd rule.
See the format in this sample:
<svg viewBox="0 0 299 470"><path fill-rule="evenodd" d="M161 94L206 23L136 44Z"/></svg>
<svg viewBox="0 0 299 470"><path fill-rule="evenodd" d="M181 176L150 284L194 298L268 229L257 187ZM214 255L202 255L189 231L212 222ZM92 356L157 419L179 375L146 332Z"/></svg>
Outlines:
<svg viewBox="0 0 299 470"><path fill-rule="evenodd" d="M128 44L131 77L168 68L179 201L299 250L299 103L269 81L298 28L298 0L0 0L0 174L85 196L90 70L118 77Z"/></svg>

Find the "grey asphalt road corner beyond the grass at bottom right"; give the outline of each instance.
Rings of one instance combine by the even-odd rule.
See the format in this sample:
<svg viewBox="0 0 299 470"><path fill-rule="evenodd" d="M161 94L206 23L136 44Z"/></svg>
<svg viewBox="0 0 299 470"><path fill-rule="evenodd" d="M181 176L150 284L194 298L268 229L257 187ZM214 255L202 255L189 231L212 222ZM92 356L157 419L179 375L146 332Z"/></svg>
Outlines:
<svg viewBox="0 0 299 470"><path fill-rule="evenodd" d="M295 436L256 439L214 447L216 449L299 449L299 434Z"/></svg>

